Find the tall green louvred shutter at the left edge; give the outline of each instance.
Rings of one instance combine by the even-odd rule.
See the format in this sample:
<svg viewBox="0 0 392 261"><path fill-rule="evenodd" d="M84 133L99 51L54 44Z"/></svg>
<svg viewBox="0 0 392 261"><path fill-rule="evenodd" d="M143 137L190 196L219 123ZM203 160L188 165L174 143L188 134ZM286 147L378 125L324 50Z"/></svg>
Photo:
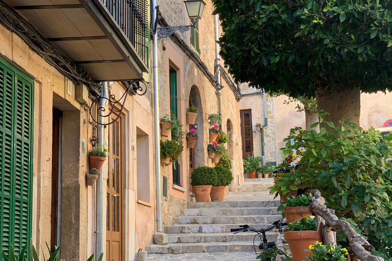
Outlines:
<svg viewBox="0 0 392 261"><path fill-rule="evenodd" d="M33 81L0 57L0 251L31 238Z"/></svg>

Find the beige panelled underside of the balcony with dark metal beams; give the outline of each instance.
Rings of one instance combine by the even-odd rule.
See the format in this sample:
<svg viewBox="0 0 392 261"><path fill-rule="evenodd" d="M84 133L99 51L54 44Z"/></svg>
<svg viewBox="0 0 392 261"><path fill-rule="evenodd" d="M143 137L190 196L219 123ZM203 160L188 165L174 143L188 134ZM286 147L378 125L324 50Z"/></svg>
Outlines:
<svg viewBox="0 0 392 261"><path fill-rule="evenodd" d="M94 81L143 79L143 60L99 0L4 0Z"/></svg>

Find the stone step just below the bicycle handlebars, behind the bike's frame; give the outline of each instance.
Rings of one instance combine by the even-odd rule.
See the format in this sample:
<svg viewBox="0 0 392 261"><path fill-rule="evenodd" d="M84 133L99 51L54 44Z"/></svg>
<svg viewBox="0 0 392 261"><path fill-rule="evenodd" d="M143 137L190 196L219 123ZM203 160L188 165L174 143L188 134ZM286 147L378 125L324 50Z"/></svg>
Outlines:
<svg viewBox="0 0 392 261"><path fill-rule="evenodd" d="M169 244L174 243L212 243L212 242L246 242L253 241L256 233L253 232L241 232L233 234L230 233L194 233L194 234L169 234L167 237ZM277 232L266 233L268 241L276 242L278 238ZM259 238L256 237L259 241ZM257 241L257 242L258 242Z"/></svg>

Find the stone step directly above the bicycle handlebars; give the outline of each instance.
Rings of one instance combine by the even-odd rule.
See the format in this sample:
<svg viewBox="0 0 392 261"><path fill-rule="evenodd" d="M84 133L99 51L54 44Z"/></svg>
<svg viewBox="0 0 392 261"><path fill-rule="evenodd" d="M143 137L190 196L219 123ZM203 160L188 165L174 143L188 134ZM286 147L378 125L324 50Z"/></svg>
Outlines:
<svg viewBox="0 0 392 261"><path fill-rule="evenodd" d="M194 216L194 217L177 217L173 219L174 224L257 224L273 223L282 219L281 215L263 215L263 216Z"/></svg>

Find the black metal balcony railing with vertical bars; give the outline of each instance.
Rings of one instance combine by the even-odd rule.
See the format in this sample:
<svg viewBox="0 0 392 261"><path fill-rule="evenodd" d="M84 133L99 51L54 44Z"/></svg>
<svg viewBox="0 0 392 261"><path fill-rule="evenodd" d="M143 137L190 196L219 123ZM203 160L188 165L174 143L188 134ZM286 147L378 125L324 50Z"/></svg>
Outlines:
<svg viewBox="0 0 392 261"><path fill-rule="evenodd" d="M149 0L101 0L146 64L149 59Z"/></svg>

